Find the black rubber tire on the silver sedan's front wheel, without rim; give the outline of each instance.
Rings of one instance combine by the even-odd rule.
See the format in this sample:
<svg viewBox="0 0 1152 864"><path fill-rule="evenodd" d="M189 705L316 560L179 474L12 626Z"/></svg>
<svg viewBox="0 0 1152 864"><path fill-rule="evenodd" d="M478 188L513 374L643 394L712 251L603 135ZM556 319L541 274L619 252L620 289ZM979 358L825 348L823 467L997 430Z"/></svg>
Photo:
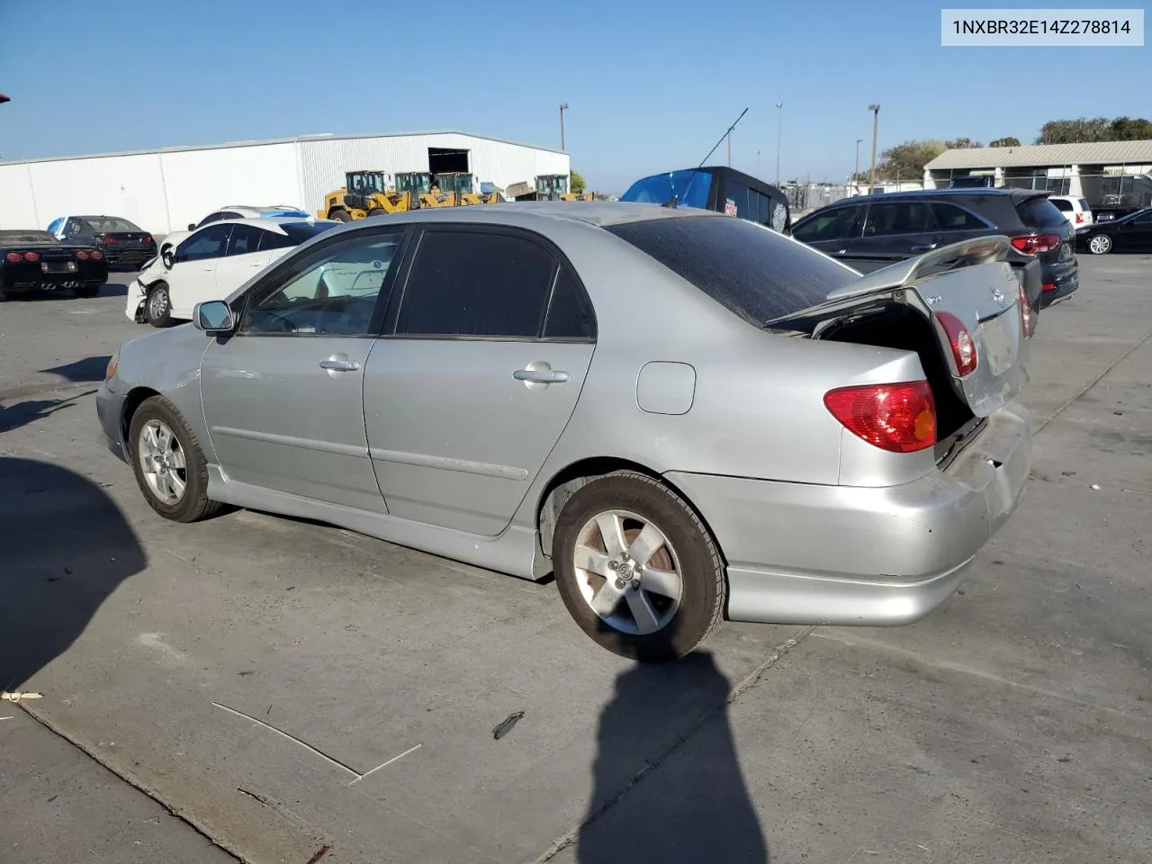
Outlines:
<svg viewBox="0 0 1152 864"><path fill-rule="evenodd" d="M184 455L184 468L176 469L177 476L181 476L185 484L184 492L182 498L174 503L166 503L157 497L147 483L141 462L141 433L151 420L159 420L172 430ZM152 396L144 400L132 415L128 427L128 456L131 460L132 473L136 475L136 485L139 486L141 494L144 495L149 506L166 520L199 522L211 518L223 508L219 501L209 499L209 470L199 441L196 440L196 435L192 434L184 418L180 416L180 411L164 396Z"/></svg>

